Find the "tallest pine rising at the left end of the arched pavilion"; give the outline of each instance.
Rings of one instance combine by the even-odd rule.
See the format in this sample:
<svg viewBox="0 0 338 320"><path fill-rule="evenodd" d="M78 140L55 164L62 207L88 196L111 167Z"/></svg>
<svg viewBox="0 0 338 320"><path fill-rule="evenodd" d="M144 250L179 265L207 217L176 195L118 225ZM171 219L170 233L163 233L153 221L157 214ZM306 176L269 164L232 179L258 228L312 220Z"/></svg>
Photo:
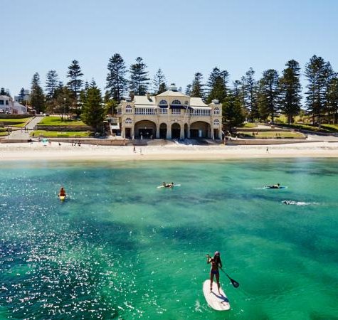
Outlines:
<svg viewBox="0 0 338 320"><path fill-rule="evenodd" d="M125 78L127 67L125 66L125 60L123 60L119 53L115 53L109 59L107 69L107 85L105 88L108 90L110 99L114 99L120 103L127 91L127 78Z"/></svg>

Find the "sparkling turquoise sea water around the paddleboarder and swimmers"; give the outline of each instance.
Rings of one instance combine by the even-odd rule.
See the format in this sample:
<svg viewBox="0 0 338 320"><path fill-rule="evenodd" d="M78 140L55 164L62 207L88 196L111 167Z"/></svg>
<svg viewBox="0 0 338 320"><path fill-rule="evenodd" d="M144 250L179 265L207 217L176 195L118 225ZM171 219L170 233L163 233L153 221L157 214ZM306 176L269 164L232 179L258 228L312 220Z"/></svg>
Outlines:
<svg viewBox="0 0 338 320"><path fill-rule="evenodd" d="M0 319L338 319L337 176L335 159L2 163ZM215 250L240 283L221 274L225 313L202 293Z"/></svg>

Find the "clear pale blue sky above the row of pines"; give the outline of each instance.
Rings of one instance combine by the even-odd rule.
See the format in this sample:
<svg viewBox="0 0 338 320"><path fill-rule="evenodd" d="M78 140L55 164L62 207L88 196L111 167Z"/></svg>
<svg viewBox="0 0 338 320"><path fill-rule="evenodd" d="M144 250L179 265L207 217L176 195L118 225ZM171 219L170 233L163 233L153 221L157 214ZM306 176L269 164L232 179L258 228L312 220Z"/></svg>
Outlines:
<svg viewBox="0 0 338 320"><path fill-rule="evenodd" d="M0 87L11 95L36 72L43 87L48 70L65 82L73 59L104 89L114 53L183 89L215 66L231 82L250 67L258 79L290 59L303 71L314 54L338 71L337 0L1 0L0 12Z"/></svg>

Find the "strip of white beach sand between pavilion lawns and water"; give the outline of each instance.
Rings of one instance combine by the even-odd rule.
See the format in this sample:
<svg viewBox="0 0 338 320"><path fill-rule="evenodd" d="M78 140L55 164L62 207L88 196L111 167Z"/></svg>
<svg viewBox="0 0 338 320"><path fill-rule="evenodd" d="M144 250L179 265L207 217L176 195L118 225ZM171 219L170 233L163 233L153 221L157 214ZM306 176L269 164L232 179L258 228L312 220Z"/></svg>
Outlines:
<svg viewBox="0 0 338 320"><path fill-rule="evenodd" d="M268 148L268 151L267 151ZM338 157L338 142L311 142L268 146L193 146L167 144L164 146L72 146L57 142L44 145L0 144L0 161L13 160L221 160L242 158Z"/></svg>

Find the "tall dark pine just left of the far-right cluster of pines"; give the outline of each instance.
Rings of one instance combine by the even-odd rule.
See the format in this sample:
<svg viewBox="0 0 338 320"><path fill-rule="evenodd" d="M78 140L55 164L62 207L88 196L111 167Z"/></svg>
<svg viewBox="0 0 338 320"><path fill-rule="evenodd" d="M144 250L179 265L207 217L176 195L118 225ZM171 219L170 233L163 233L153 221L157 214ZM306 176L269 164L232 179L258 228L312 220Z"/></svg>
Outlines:
<svg viewBox="0 0 338 320"><path fill-rule="evenodd" d="M287 61L287 68L282 71L280 78L280 110L287 117L287 122L293 122L300 113L302 86L300 85L300 65L295 60Z"/></svg>

